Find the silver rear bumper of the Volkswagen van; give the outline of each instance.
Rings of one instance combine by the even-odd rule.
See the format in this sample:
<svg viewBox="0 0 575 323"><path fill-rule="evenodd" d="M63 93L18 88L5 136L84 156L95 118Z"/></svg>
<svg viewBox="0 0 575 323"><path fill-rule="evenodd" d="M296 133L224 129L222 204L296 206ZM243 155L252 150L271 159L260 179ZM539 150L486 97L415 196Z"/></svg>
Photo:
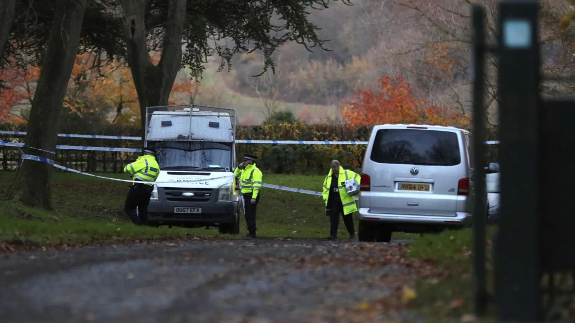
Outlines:
<svg viewBox="0 0 575 323"><path fill-rule="evenodd" d="M470 227L473 224L471 213L455 212L455 216L427 216L408 214L371 213L369 208L359 208L360 221L374 223L409 223Z"/></svg>

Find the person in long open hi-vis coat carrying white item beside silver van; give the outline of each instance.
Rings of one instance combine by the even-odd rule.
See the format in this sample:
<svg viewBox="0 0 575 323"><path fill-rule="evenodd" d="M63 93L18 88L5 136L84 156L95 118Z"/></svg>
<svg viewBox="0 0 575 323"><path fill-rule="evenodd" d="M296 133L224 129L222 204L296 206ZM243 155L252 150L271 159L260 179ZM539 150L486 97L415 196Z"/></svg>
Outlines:
<svg viewBox="0 0 575 323"><path fill-rule="evenodd" d="M355 239L354 219L352 214L358 211L355 204L355 198L347 193L344 182L355 178L360 182L359 174L348 169L343 169L339 161L331 162L331 169L325 177L323 185L323 200L325 211L329 216L329 237L328 239L337 239L339 227L339 215L343 213L343 224L346 225L347 232L350 234L350 240Z"/></svg>

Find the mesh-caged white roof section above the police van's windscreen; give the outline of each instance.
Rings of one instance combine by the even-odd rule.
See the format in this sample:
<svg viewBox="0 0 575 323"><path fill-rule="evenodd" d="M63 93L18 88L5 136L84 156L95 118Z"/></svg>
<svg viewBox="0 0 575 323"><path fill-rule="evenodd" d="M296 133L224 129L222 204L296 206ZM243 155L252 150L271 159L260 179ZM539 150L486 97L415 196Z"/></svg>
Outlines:
<svg viewBox="0 0 575 323"><path fill-rule="evenodd" d="M145 141L235 142L236 111L182 104L146 108Z"/></svg>

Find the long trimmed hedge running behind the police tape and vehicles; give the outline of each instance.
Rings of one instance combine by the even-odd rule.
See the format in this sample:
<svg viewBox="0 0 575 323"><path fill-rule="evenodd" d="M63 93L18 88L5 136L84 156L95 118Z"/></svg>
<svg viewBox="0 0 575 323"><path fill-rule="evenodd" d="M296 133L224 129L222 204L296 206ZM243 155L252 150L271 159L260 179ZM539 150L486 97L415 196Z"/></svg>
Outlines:
<svg viewBox="0 0 575 323"><path fill-rule="evenodd" d="M0 124L0 130L26 131L22 124ZM64 126L59 132L69 134L139 136L139 127L107 124L101 127L86 127L82 130ZM93 129L90 129L93 128ZM260 140L306 140L306 141L367 141L370 127L351 127L347 124L301 124L282 123L263 126L237 126L237 139ZM24 136L0 135L3 141L23 142ZM16 140L15 140L16 139ZM133 147L141 146L141 141L117 139L58 138L59 145ZM258 166L264 172L285 174L324 174L329 162L338 159L346 168L359 171L365 152L365 145L272 145L238 144L236 155L240 159L244 153L259 157ZM101 151L59 150L56 160L70 168L98 172L121 172L127 162L136 154L110 153ZM2 169L14 168L19 161L20 151L4 148L0 151ZM493 160L488 156L486 159ZM10 166L12 165L12 166Z"/></svg>

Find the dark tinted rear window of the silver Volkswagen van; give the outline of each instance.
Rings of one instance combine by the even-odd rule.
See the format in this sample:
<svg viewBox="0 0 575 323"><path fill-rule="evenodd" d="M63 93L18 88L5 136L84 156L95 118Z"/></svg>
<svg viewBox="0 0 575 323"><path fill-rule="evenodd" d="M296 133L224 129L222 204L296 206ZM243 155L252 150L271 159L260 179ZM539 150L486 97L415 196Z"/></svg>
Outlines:
<svg viewBox="0 0 575 323"><path fill-rule="evenodd" d="M455 166L461 163L456 133L419 129L380 129L371 160L381 164Z"/></svg>

